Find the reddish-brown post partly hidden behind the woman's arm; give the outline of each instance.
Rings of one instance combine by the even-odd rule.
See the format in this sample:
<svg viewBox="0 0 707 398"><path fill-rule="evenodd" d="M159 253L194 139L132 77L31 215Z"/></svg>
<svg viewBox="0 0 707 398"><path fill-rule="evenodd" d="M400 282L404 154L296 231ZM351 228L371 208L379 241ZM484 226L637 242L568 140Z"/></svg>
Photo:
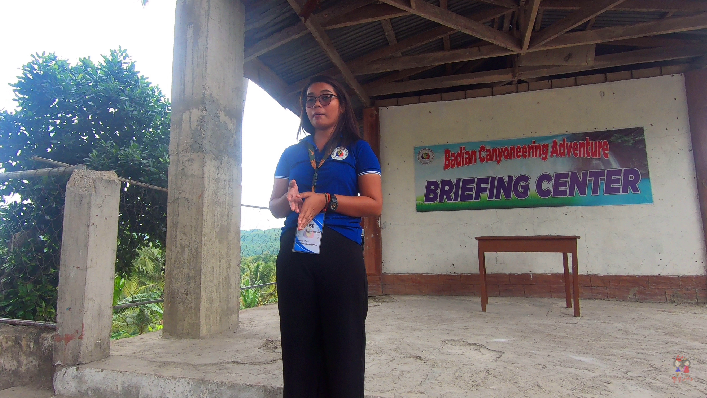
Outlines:
<svg viewBox="0 0 707 398"><path fill-rule="evenodd" d="M380 124L377 107L363 110L363 138L368 141L380 160ZM383 286L381 285L382 248L380 217L363 217L363 257L366 262L368 294L370 296L383 294Z"/></svg>

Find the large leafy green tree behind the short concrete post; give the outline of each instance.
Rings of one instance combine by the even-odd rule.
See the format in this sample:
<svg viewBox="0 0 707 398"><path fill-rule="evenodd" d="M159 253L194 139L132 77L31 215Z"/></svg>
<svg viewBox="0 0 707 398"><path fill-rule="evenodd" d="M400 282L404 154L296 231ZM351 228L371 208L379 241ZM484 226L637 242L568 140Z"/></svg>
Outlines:
<svg viewBox="0 0 707 398"><path fill-rule="evenodd" d="M46 167L31 160L42 156L166 187L170 104L125 50L75 65L37 54L12 86L18 109L0 111L0 168ZM17 308L28 290L41 292L36 303L52 307L56 301L65 183L15 179L0 185L0 316L52 316ZM122 186L119 274L131 273L139 248L164 247L166 199L164 192Z"/></svg>

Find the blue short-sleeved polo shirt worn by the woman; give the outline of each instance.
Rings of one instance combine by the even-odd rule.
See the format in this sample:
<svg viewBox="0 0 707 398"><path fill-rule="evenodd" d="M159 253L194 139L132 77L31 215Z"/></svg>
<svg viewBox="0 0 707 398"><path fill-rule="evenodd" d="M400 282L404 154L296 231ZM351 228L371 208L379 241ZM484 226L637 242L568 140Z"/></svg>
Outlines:
<svg viewBox="0 0 707 398"><path fill-rule="evenodd" d="M309 161L308 145L314 146L317 164L325 155L314 145L314 137L308 135L299 143L285 149L275 168L275 178L297 181L300 193L312 190L314 169ZM364 140L358 140L345 150L337 147L317 172L317 193L330 193L344 196L357 196L358 176L364 174L380 175L380 163L371 146ZM290 212L285 218L284 232L297 227L299 214ZM328 211L324 215L324 225L341 233L345 237L361 244L361 218Z"/></svg>

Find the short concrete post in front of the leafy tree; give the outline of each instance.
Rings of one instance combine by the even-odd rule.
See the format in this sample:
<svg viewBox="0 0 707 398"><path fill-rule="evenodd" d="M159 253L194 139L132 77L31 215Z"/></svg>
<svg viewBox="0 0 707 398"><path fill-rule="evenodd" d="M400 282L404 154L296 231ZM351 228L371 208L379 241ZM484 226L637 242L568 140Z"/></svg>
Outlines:
<svg viewBox="0 0 707 398"><path fill-rule="evenodd" d="M77 170L66 185L54 363L110 355L120 181L112 171Z"/></svg>

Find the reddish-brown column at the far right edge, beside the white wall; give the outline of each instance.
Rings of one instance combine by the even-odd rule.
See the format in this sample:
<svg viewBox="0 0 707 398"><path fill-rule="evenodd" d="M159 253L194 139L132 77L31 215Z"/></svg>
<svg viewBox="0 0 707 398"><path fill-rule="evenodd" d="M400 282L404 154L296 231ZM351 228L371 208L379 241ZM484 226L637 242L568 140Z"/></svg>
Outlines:
<svg viewBox="0 0 707 398"><path fill-rule="evenodd" d="M707 70L685 74L687 110L690 116L692 156L697 176L697 199L702 213L702 230L707 246Z"/></svg>

